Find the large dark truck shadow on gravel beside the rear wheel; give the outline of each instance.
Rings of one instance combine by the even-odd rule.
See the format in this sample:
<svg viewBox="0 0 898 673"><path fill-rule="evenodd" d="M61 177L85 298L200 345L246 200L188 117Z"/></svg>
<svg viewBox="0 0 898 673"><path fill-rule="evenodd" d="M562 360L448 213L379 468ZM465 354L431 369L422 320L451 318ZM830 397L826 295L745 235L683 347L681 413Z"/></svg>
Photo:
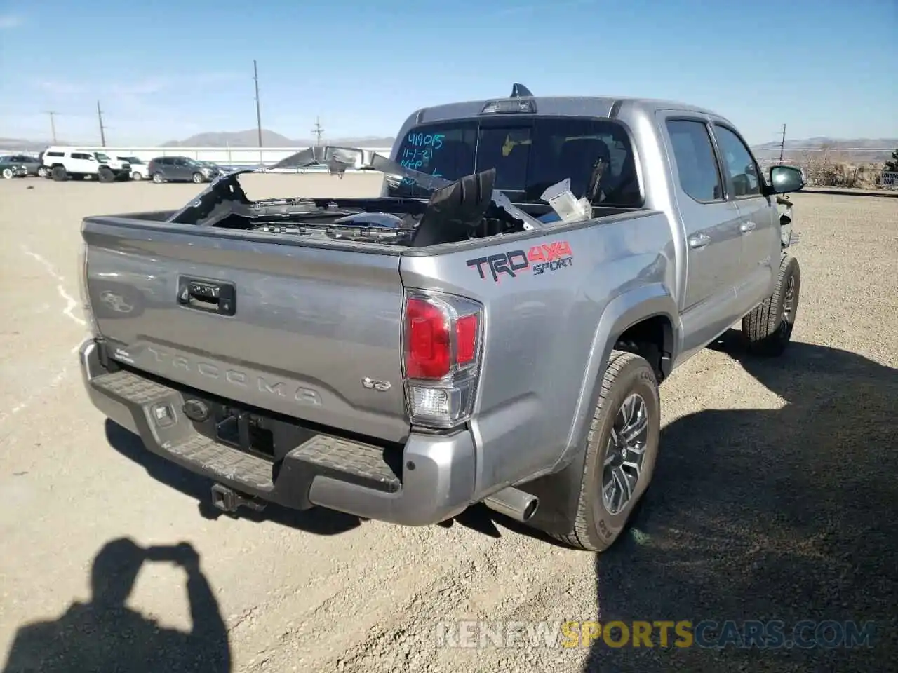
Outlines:
<svg viewBox="0 0 898 673"><path fill-rule="evenodd" d="M898 670L898 370L801 343L756 359L733 330L711 347L784 406L665 426L629 535L597 557L600 621L714 620L707 644L727 642L726 620L782 620L784 642L812 647L662 649L655 629L654 648L595 641L585 670ZM816 645L825 620L839 624ZM838 642L851 620L875 623L870 646Z"/></svg>

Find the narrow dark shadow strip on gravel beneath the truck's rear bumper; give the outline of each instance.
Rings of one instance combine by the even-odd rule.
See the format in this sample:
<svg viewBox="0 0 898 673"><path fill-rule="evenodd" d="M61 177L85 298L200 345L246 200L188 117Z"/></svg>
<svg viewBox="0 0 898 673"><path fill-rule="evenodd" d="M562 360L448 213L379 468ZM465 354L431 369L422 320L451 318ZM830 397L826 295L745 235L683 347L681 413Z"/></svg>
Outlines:
<svg viewBox="0 0 898 673"><path fill-rule="evenodd" d="M125 458L136 462L156 481L195 498L198 501L199 513L204 518L216 520L220 516L231 516L213 506L211 488L215 482L211 479L195 475L146 450L143 441L140 441L136 434L109 419L106 420L106 439L113 449L119 451ZM361 519L351 514L325 510L320 507L297 511L276 504L269 504L264 511L260 512L244 507L236 517L257 522L274 521L282 526L304 530L315 535L338 535L357 528L362 522Z"/></svg>

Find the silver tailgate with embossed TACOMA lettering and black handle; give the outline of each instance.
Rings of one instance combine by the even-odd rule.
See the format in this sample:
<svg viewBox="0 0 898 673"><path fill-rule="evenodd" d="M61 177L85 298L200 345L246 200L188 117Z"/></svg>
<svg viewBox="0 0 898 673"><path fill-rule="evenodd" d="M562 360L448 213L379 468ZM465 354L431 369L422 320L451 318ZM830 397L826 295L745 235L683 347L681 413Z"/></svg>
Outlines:
<svg viewBox="0 0 898 673"><path fill-rule="evenodd" d="M123 218L88 218L82 235L94 318L119 362L405 438L398 255Z"/></svg>

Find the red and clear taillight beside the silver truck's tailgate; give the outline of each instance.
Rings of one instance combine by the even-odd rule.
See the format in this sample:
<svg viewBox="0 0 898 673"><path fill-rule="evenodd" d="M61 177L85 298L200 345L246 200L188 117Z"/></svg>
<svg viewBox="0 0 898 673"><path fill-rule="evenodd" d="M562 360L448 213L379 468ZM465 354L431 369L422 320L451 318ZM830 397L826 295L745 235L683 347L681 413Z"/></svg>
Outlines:
<svg viewBox="0 0 898 673"><path fill-rule="evenodd" d="M412 423L452 427L468 419L482 338L480 303L443 293L406 294L403 364Z"/></svg>

